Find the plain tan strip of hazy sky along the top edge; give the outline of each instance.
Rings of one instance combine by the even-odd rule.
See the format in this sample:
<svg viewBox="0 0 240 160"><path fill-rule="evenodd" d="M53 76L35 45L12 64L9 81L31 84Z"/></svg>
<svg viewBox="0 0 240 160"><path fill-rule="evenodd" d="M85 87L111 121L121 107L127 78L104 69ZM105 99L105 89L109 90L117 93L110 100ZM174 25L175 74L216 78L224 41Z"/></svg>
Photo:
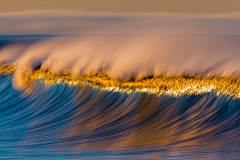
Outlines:
<svg viewBox="0 0 240 160"><path fill-rule="evenodd" d="M52 9L91 12L225 13L240 11L240 0L0 0L0 12Z"/></svg>

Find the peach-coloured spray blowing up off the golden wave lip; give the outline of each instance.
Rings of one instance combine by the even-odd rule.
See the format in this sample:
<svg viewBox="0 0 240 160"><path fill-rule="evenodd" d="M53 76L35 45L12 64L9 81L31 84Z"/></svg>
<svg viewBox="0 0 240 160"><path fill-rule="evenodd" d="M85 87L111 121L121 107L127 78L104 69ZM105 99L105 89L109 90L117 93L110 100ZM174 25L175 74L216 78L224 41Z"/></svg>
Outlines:
<svg viewBox="0 0 240 160"><path fill-rule="evenodd" d="M16 72L41 67L74 76L105 72L115 79L163 74L239 77L239 43L235 38L62 37L6 46L0 62L16 66Z"/></svg>

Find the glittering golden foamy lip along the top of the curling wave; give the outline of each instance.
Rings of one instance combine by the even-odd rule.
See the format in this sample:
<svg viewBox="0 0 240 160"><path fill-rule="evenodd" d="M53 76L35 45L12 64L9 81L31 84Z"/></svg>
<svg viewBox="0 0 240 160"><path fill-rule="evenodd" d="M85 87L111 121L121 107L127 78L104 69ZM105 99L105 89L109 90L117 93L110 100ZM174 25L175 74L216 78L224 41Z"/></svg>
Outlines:
<svg viewBox="0 0 240 160"><path fill-rule="evenodd" d="M0 73L14 73L14 67L0 66ZM50 71L35 69L16 79L18 87L29 87L33 81L43 80L47 85L68 84L70 86L90 86L95 89L122 93L147 93L155 95L181 96L184 94L204 94L215 92L240 98L240 79L232 77L196 76L154 76L141 79L119 81L105 73L74 77L70 74L53 74Z"/></svg>

